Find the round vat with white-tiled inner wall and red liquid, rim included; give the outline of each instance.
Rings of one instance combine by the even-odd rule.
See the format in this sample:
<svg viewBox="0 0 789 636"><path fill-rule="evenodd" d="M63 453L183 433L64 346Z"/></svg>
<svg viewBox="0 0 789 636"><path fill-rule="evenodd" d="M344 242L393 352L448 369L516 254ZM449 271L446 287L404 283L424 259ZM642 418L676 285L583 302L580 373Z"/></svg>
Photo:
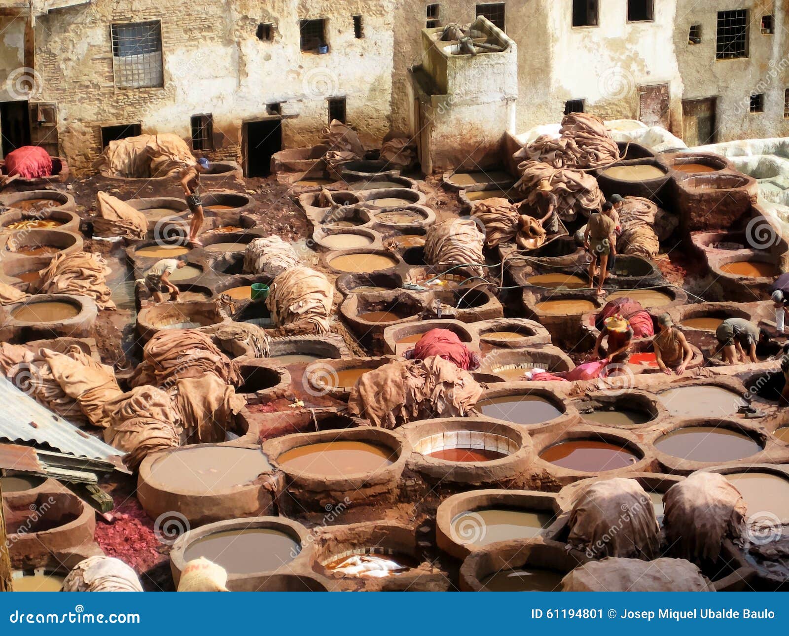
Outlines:
<svg viewBox="0 0 789 636"><path fill-rule="evenodd" d="M451 417L410 422L400 432L413 447L409 466L442 483L497 484L532 461L529 436L512 425Z"/></svg>

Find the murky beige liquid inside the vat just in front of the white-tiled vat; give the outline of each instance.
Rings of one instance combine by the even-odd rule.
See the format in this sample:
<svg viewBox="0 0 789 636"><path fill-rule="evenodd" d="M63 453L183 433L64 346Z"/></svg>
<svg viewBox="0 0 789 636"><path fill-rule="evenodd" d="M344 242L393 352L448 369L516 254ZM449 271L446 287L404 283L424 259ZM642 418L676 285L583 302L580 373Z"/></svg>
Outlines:
<svg viewBox="0 0 789 636"><path fill-rule="evenodd" d="M551 525L552 512L524 508L489 507L457 514L452 519L454 541L463 545L488 545L497 541L538 537Z"/></svg>

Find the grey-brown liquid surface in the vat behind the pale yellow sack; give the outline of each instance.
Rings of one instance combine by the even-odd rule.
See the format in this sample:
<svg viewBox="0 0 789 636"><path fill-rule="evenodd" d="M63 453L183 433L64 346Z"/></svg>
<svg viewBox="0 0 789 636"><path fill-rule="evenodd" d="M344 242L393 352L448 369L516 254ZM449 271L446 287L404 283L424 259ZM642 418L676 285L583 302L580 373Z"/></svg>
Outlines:
<svg viewBox="0 0 789 636"><path fill-rule="evenodd" d="M290 534L274 528L225 530L189 544L186 563L201 556L222 566L227 574L254 574L276 570L301 552Z"/></svg>

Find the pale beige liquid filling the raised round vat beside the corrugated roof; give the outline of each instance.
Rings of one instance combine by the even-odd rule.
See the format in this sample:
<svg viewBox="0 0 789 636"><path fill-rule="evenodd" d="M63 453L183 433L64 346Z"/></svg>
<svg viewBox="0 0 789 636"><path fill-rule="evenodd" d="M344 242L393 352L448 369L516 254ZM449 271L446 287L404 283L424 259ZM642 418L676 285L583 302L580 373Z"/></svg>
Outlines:
<svg viewBox="0 0 789 636"><path fill-rule="evenodd" d="M259 449L184 447L156 459L151 464L151 477L169 492L212 495L250 484L271 470Z"/></svg>

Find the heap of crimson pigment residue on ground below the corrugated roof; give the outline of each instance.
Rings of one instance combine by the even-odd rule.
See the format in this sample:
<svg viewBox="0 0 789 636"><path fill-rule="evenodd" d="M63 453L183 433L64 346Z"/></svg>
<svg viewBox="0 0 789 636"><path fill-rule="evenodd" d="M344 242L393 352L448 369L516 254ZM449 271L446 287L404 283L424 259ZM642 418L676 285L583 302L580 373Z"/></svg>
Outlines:
<svg viewBox="0 0 789 636"><path fill-rule="evenodd" d="M169 557L166 546L157 541L153 520L145 514L132 496L116 496L115 509L110 513L113 522L97 517L95 541L107 556L115 556L128 563L137 574L150 570Z"/></svg>

